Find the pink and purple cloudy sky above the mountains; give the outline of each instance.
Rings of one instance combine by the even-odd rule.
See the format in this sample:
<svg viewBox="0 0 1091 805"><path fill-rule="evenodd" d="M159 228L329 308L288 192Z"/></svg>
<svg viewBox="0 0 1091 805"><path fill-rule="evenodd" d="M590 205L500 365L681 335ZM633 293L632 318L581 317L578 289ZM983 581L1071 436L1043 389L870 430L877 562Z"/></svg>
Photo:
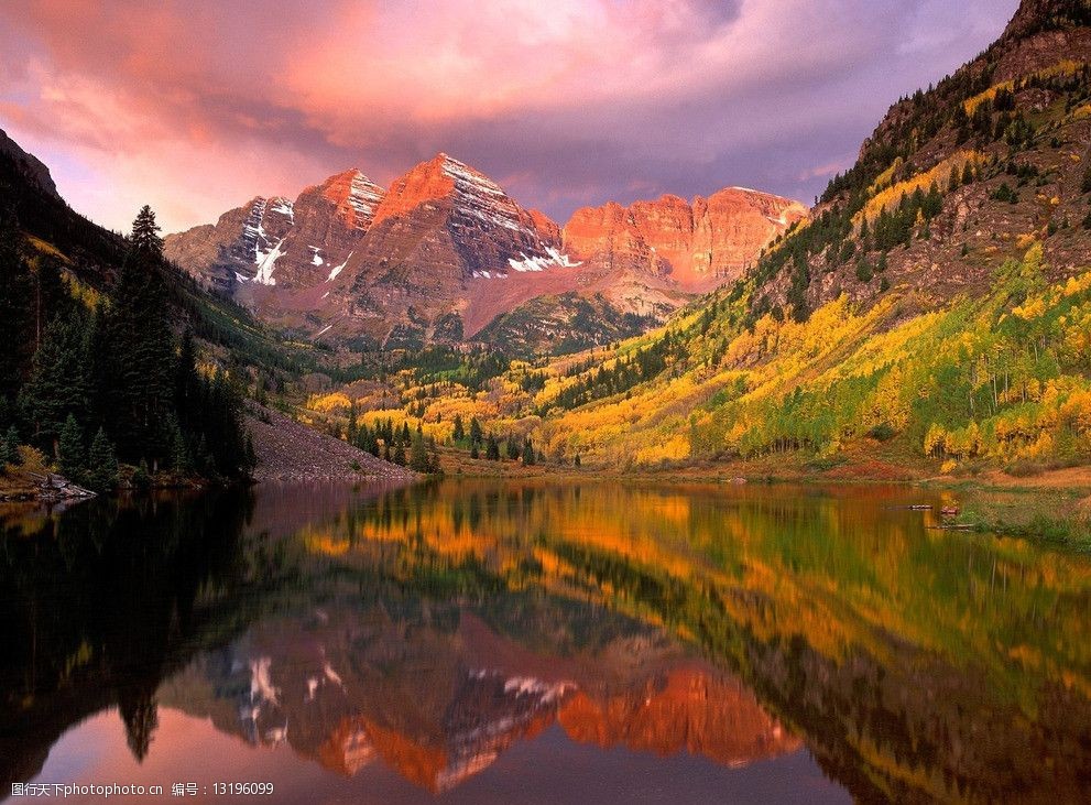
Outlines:
<svg viewBox="0 0 1091 805"><path fill-rule="evenodd" d="M740 185L812 203L1017 0L4 0L0 128L164 231L439 151L564 222Z"/></svg>

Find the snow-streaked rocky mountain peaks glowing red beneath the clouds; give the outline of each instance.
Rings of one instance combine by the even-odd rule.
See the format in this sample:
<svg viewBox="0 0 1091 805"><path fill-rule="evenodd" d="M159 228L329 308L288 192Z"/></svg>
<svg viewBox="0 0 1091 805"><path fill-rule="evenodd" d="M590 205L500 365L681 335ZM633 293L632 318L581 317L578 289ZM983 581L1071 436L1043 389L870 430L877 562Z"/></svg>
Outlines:
<svg viewBox="0 0 1091 805"><path fill-rule="evenodd" d="M733 279L807 215L731 188L582 209L560 227L437 154L383 189L359 171L166 238L189 273L273 324L350 346L481 338L533 351L646 329ZM589 313L590 312L590 313Z"/></svg>

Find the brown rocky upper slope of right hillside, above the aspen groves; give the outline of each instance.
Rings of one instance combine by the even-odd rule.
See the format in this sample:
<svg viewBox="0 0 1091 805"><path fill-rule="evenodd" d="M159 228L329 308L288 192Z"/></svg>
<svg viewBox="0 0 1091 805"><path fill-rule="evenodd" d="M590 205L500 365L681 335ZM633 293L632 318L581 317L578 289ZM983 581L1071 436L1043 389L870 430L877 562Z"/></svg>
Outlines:
<svg viewBox="0 0 1091 805"><path fill-rule="evenodd" d="M984 292L1033 239L1049 279L1085 264L1089 8L1027 0L979 57L895 104L811 226L757 264L756 316L781 307L803 320L842 293L870 305L899 284L942 305Z"/></svg>

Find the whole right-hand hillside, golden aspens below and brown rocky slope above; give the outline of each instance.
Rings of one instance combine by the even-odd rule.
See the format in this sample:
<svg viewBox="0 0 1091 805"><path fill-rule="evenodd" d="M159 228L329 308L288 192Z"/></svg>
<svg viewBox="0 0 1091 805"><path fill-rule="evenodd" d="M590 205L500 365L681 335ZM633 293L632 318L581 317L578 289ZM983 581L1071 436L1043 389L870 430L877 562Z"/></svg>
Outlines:
<svg viewBox="0 0 1091 805"><path fill-rule="evenodd" d="M476 418L602 468L1087 463L1088 9L1024 3L985 53L891 109L810 222L665 327L491 379L470 360L405 367L381 387L402 409L381 415L439 439ZM345 404L377 405L378 388Z"/></svg>

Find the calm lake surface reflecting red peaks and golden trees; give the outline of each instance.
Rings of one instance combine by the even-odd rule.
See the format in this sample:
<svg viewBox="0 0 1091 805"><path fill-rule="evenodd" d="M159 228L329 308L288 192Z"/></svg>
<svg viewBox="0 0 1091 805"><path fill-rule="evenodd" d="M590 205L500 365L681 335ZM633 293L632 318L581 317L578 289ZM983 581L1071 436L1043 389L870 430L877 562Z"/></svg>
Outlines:
<svg viewBox="0 0 1091 805"><path fill-rule="evenodd" d="M1088 801L1091 561L906 508L942 502L451 480L0 510L0 798Z"/></svg>

